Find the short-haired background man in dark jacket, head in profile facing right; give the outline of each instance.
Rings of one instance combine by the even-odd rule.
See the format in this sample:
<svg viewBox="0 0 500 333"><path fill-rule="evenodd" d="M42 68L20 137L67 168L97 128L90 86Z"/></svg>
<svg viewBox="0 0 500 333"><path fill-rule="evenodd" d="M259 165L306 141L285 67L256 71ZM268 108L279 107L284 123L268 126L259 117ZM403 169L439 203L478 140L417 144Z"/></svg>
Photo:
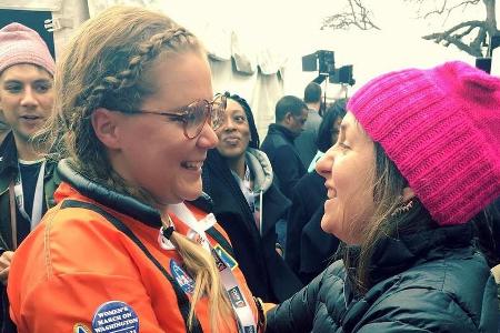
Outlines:
<svg viewBox="0 0 500 333"><path fill-rule="evenodd" d="M306 103L293 95L281 98L276 104L276 123L271 123L261 150L271 161L281 192L291 199L292 189L306 174L293 141L302 132L308 119Z"/></svg>

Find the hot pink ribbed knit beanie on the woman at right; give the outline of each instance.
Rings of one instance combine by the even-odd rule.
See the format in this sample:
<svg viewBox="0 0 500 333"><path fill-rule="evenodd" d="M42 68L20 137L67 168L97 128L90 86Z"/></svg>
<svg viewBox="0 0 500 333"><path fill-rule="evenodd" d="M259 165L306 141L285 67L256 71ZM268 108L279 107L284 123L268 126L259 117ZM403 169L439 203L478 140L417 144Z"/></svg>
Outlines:
<svg viewBox="0 0 500 333"><path fill-rule="evenodd" d="M500 79L458 61L407 69L370 81L348 110L440 225L500 195Z"/></svg>

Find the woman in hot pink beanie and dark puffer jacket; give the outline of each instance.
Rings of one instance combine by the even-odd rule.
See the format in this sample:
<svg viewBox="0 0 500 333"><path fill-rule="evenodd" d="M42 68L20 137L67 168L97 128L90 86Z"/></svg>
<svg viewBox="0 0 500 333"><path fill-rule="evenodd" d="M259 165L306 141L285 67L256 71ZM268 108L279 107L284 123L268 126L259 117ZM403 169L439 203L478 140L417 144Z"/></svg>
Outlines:
<svg viewBox="0 0 500 333"><path fill-rule="evenodd" d="M317 165L343 259L266 332L497 332L472 221L500 194L500 79L458 61L390 72L348 111Z"/></svg>

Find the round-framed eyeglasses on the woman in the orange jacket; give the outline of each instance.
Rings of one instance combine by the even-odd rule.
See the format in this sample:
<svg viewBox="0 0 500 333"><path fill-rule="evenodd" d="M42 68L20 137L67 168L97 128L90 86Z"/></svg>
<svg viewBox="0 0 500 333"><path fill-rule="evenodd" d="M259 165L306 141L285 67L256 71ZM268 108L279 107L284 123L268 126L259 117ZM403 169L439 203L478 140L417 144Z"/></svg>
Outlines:
<svg viewBox="0 0 500 333"><path fill-rule="evenodd" d="M172 120L181 121L183 124L184 137L194 139L203 129L203 125L209 120L210 127L216 131L224 122L226 119L227 98L223 94L218 94L213 101L207 100L194 101L187 107L178 109L178 113L173 112L156 112L147 110L133 110L128 113L136 114L157 114L167 117Z"/></svg>

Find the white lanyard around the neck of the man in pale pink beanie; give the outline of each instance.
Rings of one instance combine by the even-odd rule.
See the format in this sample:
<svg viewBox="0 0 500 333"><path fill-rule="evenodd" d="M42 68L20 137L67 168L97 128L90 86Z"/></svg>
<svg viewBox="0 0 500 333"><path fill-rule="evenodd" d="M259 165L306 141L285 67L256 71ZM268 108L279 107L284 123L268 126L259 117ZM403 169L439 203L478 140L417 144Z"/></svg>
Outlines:
<svg viewBox="0 0 500 333"><path fill-rule="evenodd" d="M18 164L18 176L16 178L14 183L16 202L18 204L19 212L21 213L21 215L28 221L30 221L31 230L33 230L34 226L37 226L37 224L40 222L42 218L44 174L46 174L46 161L43 161L40 165L40 172L38 173L37 185L34 188L33 209L31 210L31 215L28 215L28 213L24 210L24 194L22 191L21 170L19 169Z"/></svg>

